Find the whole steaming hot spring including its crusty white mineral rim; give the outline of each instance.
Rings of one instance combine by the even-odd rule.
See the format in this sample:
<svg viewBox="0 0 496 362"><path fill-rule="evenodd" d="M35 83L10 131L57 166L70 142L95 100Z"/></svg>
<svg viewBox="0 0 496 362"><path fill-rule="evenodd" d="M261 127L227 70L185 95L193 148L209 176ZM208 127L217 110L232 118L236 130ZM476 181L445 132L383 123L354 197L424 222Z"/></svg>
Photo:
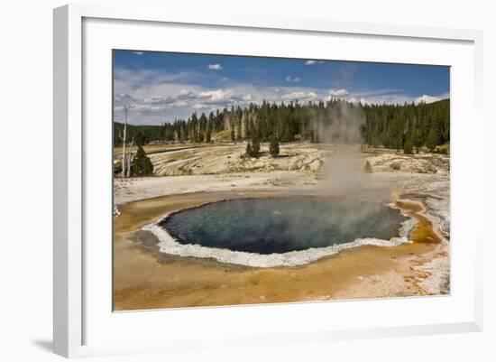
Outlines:
<svg viewBox="0 0 496 362"><path fill-rule="evenodd" d="M381 203L302 196L210 203L145 229L159 237L165 253L271 267L306 264L354 246L395 246L407 241L409 221Z"/></svg>

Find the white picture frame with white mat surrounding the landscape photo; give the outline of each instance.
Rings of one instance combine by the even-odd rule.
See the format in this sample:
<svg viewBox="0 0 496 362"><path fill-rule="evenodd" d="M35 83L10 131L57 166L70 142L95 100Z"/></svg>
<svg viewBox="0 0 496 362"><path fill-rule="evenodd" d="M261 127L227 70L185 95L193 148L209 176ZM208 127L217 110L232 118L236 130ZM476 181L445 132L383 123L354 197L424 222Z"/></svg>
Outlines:
<svg viewBox="0 0 496 362"><path fill-rule="evenodd" d="M169 24L169 25L168 25ZM190 29L204 29L205 32L216 32L219 36L227 36L227 32L237 32L240 37L256 39L256 34L271 36L306 36L312 37L346 37L347 41L394 42L398 49L404 43L408 46L428 46L432 49L430 57L438 57L436 64L451 65L455 69L452 74L452 123L454 141L452 143L453 171L452 178L452 211L453 239L458 236L466 237L468 243L455 243L452 246L452 272L454 274L453 292L447 297L437 298L406 298L399 300L350 301L350 302L318 302L293 303L271 306L238 306L225 308L203 308L178 311L146 311L113 313L108 308L108 298L105 288L108 286L108 271L111 260L106 252L111 245L111 238L104 235L104 228L111 227L112 204L103 205L101 209L104 218L101 227L92 224L88 208L94 208L96 200L109 200L112 190L104 185L96 190L88 179L88 173L99 175L106 181L110 179L110 171L101 173L108 164L102 160L101 167L92 162L97 152L111 147L110 137L106 138L107 128L101 131L96 125L85 123L85 117L93 116L88 104L95 104L94 97L87 88L96 90L96 84L91 80L91 74L99 74L93 66L93 58L109 47L127 45L127 49L162 50L159 39L144 42L144 34L162 29L168 32L167 26L174 26L178 32L188 32ZM126 28L133 27L133 36ZM158 28L153 28L158 27ZM182 29L182 30L181 30ZM162 31L162 30L161 30ZM169 30L170 31L170 30ZM122 38L127 32L128 39ZM255 33L256 32L256 33ZM86 34L86 35L85 35ZM96 37L96 35L98 35ZM140 38L141 36L141 38ZM251 38L253 36L253 38ZM96 39L97 38L97 39ZM140 41L142 39L142 41ZM115 45L113 45L115 40ZM184 36L185 43L193 40ZM140 45L140 42L142 44ZM268 41L267 41L268 42ZM220 42L219 42L220 43ZM365 42L363 42L365 44ZM403 44L403 45L401 45ZM424 45L422 45L424 44ZM441 45L440 45L441 44ZM437 49L445 44L445 49ZM451 44L451 45L450 45ZM260 53L267 52L259 42ZM267 45L267 44L265 44ZM162 45L163 46L163 45ZM177 45L178 47L182 45ZM193 46L193 45L191 45ZM199 45L196 45L199 47ZM207 46L207 45L206 45ZM217 45L216 51L228 49L227 45ZM365 47L365 45L363 45ZM93 48L94 47L94 48ZM134 48L133 48L134 47ZM225 47L225 48L223 48ZM324 53L308 54L300 50L299 56L311 55L312 59L326 59ZM265 50L262 50L265 49ZM191 48L188 48L191 49ZM253 54L253 45L246 45L246 50L233 50L236 54ZM337 49L337 48L336 48ZM343 48L344 49L344 48ZM420 48L419 48L420 49ZM165 48L164 50L167 50ZM202 52L198 48L198 52ZM265 52L264 52L265 51ZM277 51L277 50L274 50ZM283 50L280 50L283 51ZM301 52L303 51L303 52ZM307 53L305 53L307 51ZM350 51L350 50L348 50ZM453 52L451 52L453 51ZM426 54L418 54L418 59L406 58L408 54L398 54L396 59L384 54L360 55L360 50L349 52L347 55L336 53L344 60L376 60L401 62L430 62ZM437 55L436 55L437 54ZM273 55L273 54L272 54ZM297 51L289 56L298 56ZM456 55L456 59L451 59ZM92 58L93 57L93 58ZM424 57L424 58L422 58ZM103 75L111 68L107 59L99 58L105 63ZM424 60L422 60L424 59ZM408 62L408 61L406 61ZM110 67L110 68L109 68ZM96 67L97 68L97 67ZM86 72L86 73L85 73ZM90 74L90 79L85 79ZM102 77L103 81L111 83L110 78ZM85 83L87 82L87 83ZM86 85L85 85L86 84ZM464 89L461 86L466 86ZM85 88L86 87L86 88ZM86 90L85 90L86 89ZM100 106L95 107L101 115L111 110L110 92L102 89L98 97ZM221 348L226 343L231 346L257 346L272 343L295 343L318 341L325 343L339 339L381 338L390 336L409 336L434 333L455 333L482 330L482 235L477 225L477 218L464 214L461 205L470 204L470 209L482 209L481 200L482 172L482 117L480 116L482 101L482 32L471 30L436 29L411 26L393 26L371 23L337 23L331 20L316 19L287 19L266 18L263 16L219 14L216 18L206 19L200 14L169 13L167 9L149 9L140 6L131 7L101 7L98 5L65 5L54 10L54 351L65 357L85 357L98 355L115 355L124 353L149 353L164 351L182 351L197 348ZM89 95L88 95L89 94ZM464 104L460 99L467 99ZM458 102L457 102L458 100ZM104 109L105 108L105 109ZM458 120L462 117L473 119L470 128ZM110 118L108 120L110 124ZM464 135L468 141L464 143L464 153L459 153L460 144L456 144L457 135ZM97 144L91 153L87 143ZM105 159L105 157L104 157ZM106 166L104 166L106 165ZM470 167L470 169L467 169ZM102 183L106 183L106 181ZM101 192L101 193L100 193ZM96 199L102 195L101 199ZM105 202L104 202L105 203ZM106 208L108 210L106 210ZM468 209L468 208L467 208ZM96 214L98 214L96 212ZM101 216L98 214L97 216ZM466 216L466 218L465 218ZM464 219L464 225L456 223ZM105 223L105 226L104 226ZM93 226L92 226L93 225ZM102 249L100 257L96 256L94 247L87 247L88 237L102 232L102 245L108 243L107 249ZM479 234L478 234L479 233ZM106 246L104 246L106 247ZM87 263L91 262L88 269ZM458 271L464 276L458 277ZM103 275L103 282L96 283L95 275ZM95 282L95 283L94 283ZM458 284L456 284L458 283ZM98 284L98 285L96 285ZM108 291L110 293L111 291ZM105 294L105 295L104 295ZM98 302L99 300L106 302ZM99 306L98 304L102 304ZM409 308L410 315L400 314L402 308ZM417 311L431 309L432 315L420 315ZM346 313L363 311L360 322L354 322ZM379 322L372 318L373 314L380 315L381 311L389 311L391 320L384 316ZM434 311L439 311L437 314ZM442 311L442 312L441 312ZM330 325L326 318L307 322L308 316L344 315L342 320L335 319ZM102 314L104 313L104 314ZM287 316L291 316L288 320ZM330 313L330 314L329 314ZM379 313L379 314L378 314ZM395 317L399 313L401 318ZM349 314L350 315L350 314ZM369 315L369 317L366 317ZM359 315L354 315L357 319ZM393 318L396 321L392 320ZM182 323L201 321L194 336L185 338ZM261 320L271 321L279 327L264 327L260 333ZM285 321L283 323L283 321ZM157 323L167 325L162 338L156 336ZM313 323L313 324L312 324ZM269 323L268 323L269 324ZM216 326L215 326L216 325ZM129 339L116 331L129 326L130 330L148 330L141 336L130 332ZM207 327L209 326L209 327ZM225 332L232 327L233 330ZM243 332L241 331L243 327ZM182 331L181 331L182 330ZM223 331L224 330L224 331ZM111 333L115 332L115 333ZM171 332L173 331L173 332ZM115 339L106 338L115 335ZM210 335L212 337L210 338ZM220 339L219 339L220 337Z"/></svg>

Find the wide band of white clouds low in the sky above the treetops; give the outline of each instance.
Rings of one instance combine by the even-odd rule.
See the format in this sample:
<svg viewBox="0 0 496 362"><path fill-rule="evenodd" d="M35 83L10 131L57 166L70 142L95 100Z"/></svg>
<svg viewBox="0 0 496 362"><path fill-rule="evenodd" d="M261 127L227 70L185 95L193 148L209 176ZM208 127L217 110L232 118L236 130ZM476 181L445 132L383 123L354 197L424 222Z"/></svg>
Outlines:
<svg viewBox="0 0 496 362"><path fill-rule="evenodd" d="M281 101L326 101L331 97L365 104L411 104L423 99L426 102L449 97L439 96L413 97L401 89L374 88L310 88L301 87L300 83L288 76L288 82L274 87L256 86L249 82L219 82L222 72L167 73L163 70L115 70L115 121L124 119L123 107L131 107L129 121L134 125L157 125L170 122L175 118L187 119L193 110L209 112L224 107L247 107L251 102L261 104L263 100L270 103ZM201 81L199 80L201 79ZM216 80L216 87L213 82ZM284 79L282 79L284 80ZM334 95L334 96L332 96Z"/></svg>

